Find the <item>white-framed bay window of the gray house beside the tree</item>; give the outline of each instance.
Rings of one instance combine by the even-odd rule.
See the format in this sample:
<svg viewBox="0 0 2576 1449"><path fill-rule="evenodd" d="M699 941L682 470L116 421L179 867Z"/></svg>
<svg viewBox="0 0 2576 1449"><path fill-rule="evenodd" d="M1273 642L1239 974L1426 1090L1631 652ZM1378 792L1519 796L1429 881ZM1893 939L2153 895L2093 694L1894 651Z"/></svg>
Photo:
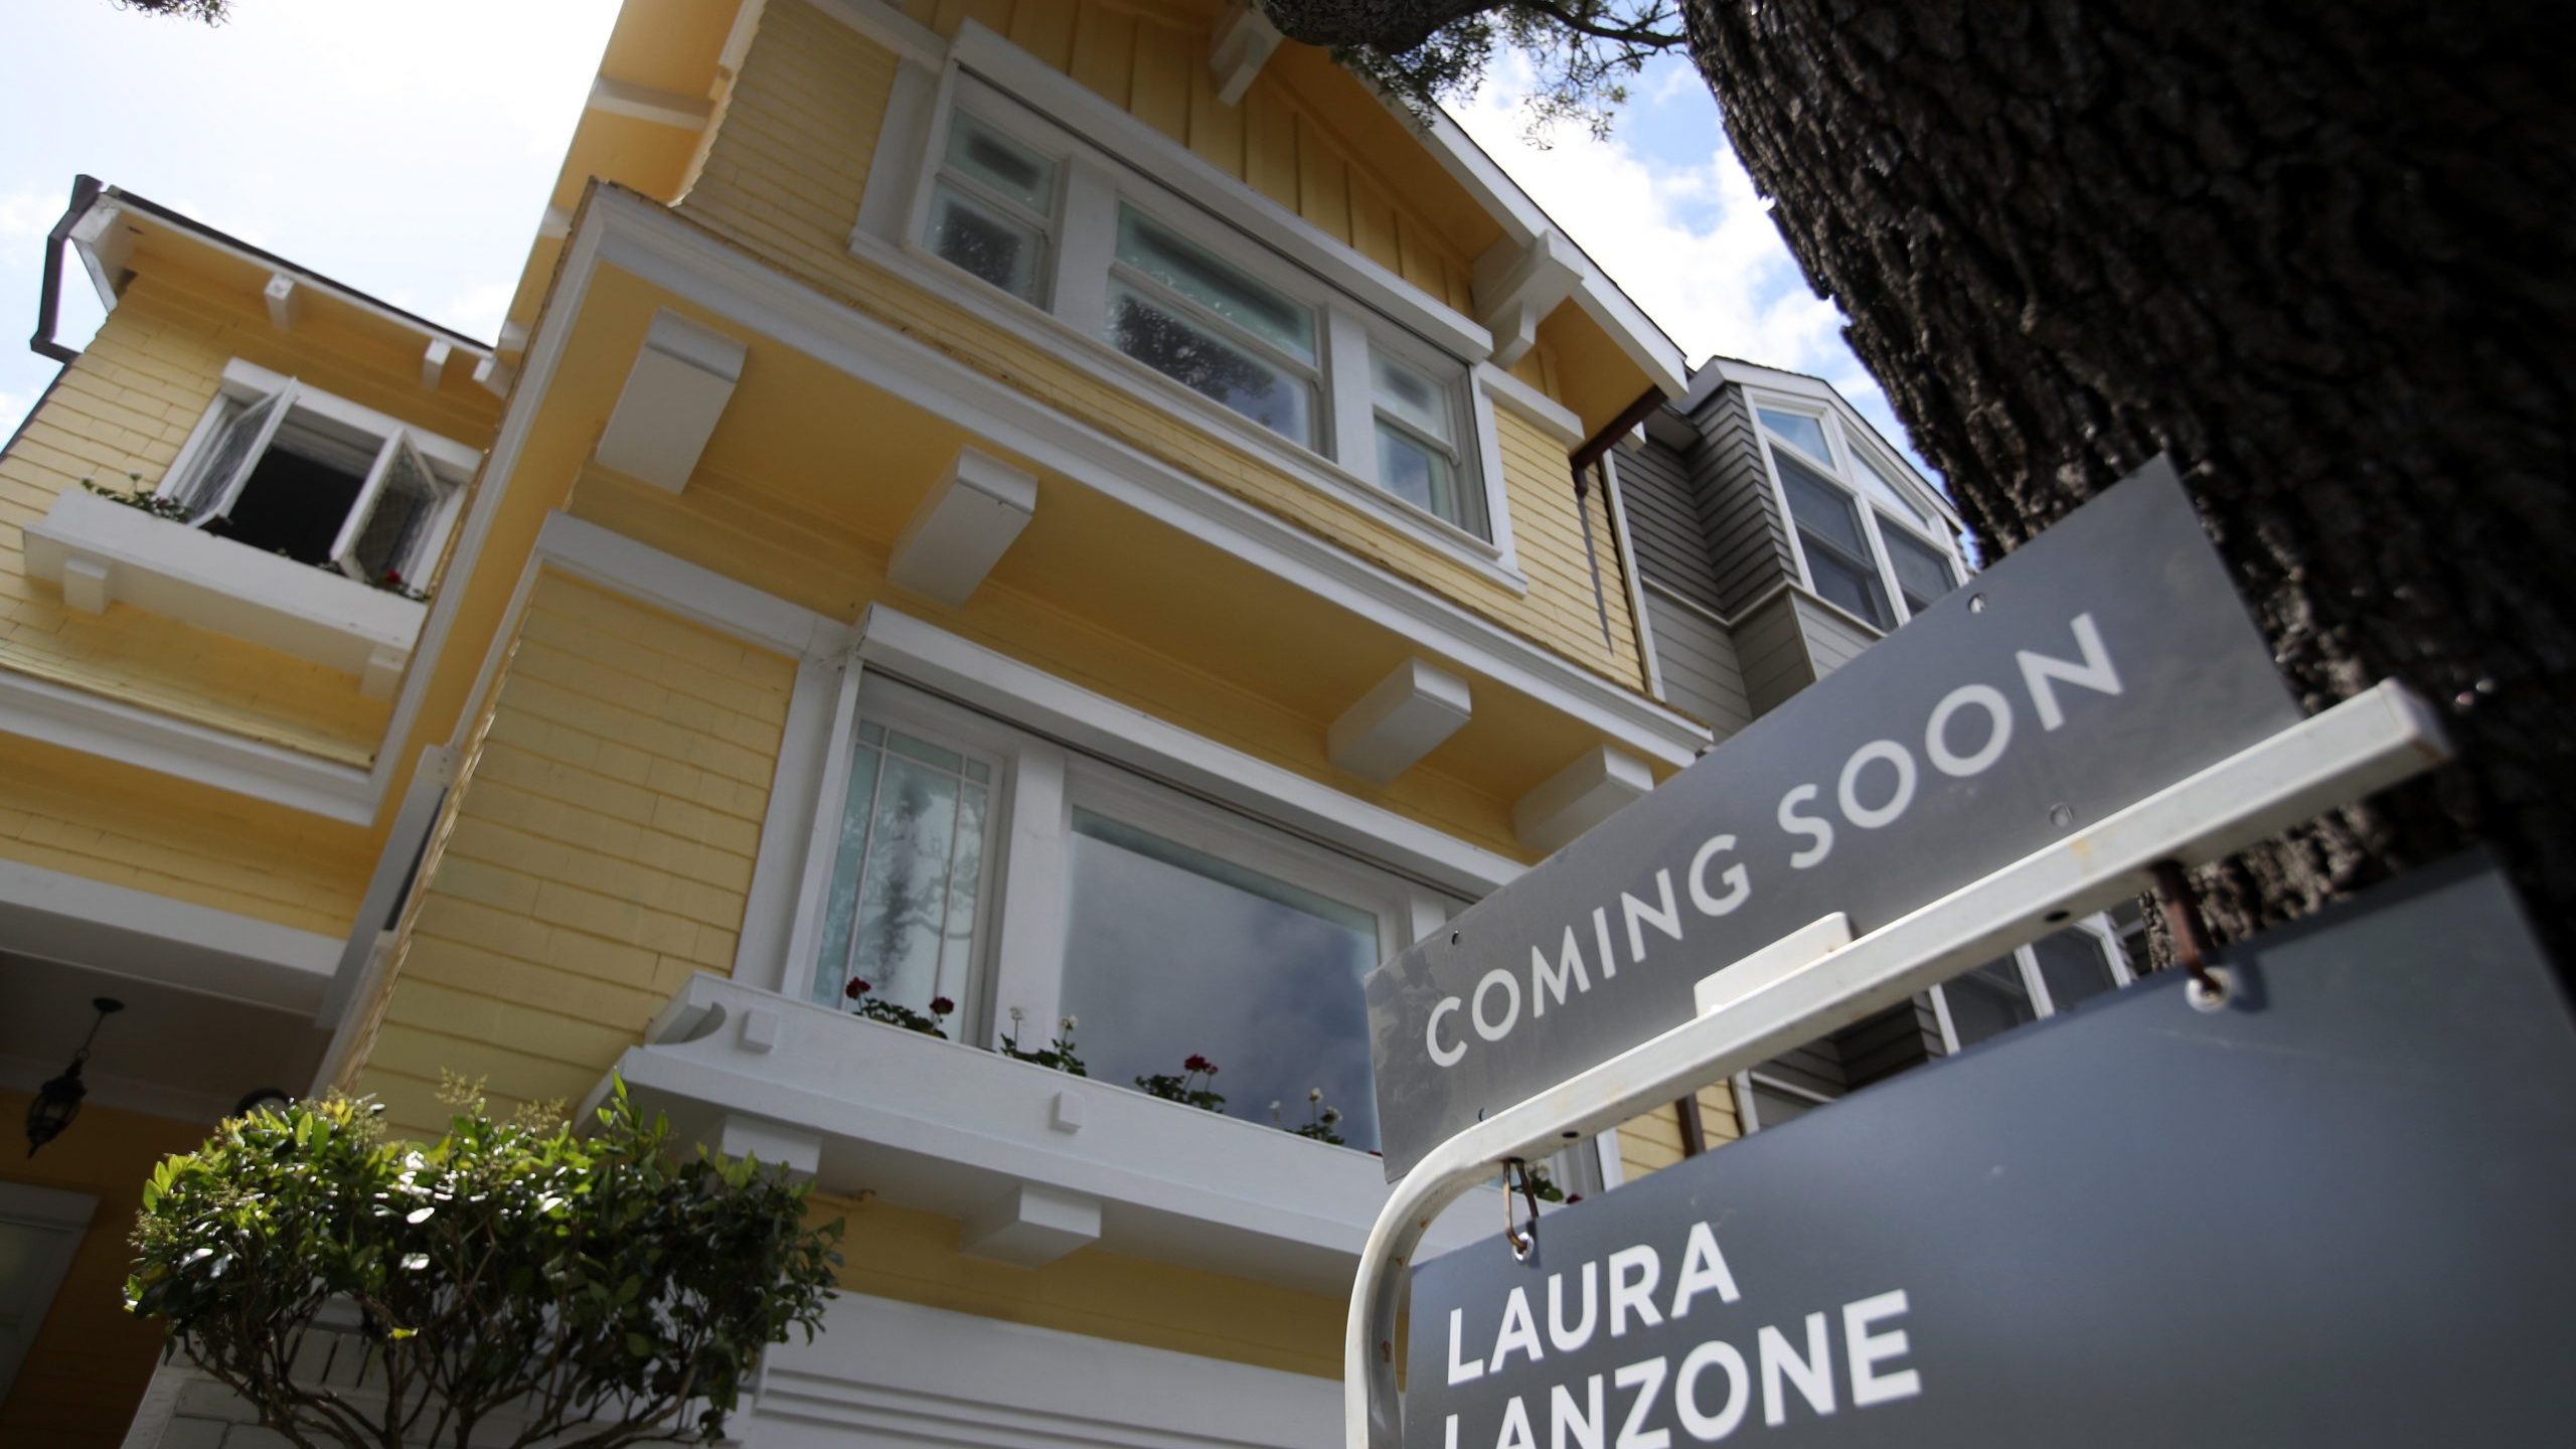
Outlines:
<svg viewBox="0 0 2576 1449"><path fill-rule="evenodd" d="M1940 523L1850 425L1767 402L1754 405L1754 418L1808 588L1878 629L1893 629L1958 588L1958 554Z"/></svg>

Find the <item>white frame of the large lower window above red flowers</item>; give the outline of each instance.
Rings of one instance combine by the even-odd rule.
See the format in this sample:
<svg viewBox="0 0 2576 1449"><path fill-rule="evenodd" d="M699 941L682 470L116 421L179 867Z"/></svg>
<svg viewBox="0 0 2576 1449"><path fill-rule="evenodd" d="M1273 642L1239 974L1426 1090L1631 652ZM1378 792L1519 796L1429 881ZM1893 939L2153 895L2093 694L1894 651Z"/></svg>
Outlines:
<svg viewBox="0 0 2576 1449"><path fill-rule="evenodd" d="M804 877L788 928L781 995L811 1000L824 905L829 902L842 802L858 722L984 758L994 766L976 892L971 977L948 1018L951 1042L992 1049L1020 1008L1023 1047L1056 1031L1064 1003L1064 926L1072 884L1074 810L1092 810L1180 846L1242 864L1378 918L1378 959L1450 920L1463 902L1342 848L1154 781L1123 763L1069 750L979 709L938 699L886 673L845 668ZM1079 1031L1077 1031L1079 1044Z"/></svg>

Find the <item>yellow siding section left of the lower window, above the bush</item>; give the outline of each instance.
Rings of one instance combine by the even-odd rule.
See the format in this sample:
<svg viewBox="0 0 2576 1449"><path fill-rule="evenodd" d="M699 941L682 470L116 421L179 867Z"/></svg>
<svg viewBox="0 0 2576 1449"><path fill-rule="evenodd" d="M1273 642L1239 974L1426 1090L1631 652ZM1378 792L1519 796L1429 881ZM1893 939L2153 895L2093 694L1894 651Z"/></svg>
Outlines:
<svg viewBox="0 0 2576 1449"><path fill-rule="evenodd" d="M556 575L528 596L355 1080L577 1101L690 972L729 972L793 660Z"/></svg>

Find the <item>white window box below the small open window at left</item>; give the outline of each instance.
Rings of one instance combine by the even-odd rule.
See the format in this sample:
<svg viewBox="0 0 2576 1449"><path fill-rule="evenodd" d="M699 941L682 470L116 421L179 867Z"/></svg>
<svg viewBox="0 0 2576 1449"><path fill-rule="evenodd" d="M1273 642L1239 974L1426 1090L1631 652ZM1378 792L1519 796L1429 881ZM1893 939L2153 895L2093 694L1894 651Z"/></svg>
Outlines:
<svg viewBox="0 0 2576 1449"><path fill-rule="evenodd" d="M103 614L131 603L252 645L358 676L389 699L420 637L425 603L278 554L201 534L173 518L75 490L26 529L26 570L62 585L64 603Z"/></svg>

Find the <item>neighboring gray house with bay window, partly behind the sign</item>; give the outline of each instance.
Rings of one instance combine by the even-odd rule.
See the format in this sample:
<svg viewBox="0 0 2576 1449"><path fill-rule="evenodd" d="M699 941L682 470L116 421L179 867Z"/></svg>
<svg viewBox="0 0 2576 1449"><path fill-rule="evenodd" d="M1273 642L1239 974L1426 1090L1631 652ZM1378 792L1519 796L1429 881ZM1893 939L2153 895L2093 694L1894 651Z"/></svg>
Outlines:
<svg viewBox="0 0 2576 1449"><path fill-rule="evenodd" d="M1610 454L1654 691L1718 743L1842 668L1968 562L1950 500L1824 379L1710 358ZM2130 980L2107 918L1736 1078L1749 1129ZM1685 1127L1687 1140L1687 1127Z"/></svg>

